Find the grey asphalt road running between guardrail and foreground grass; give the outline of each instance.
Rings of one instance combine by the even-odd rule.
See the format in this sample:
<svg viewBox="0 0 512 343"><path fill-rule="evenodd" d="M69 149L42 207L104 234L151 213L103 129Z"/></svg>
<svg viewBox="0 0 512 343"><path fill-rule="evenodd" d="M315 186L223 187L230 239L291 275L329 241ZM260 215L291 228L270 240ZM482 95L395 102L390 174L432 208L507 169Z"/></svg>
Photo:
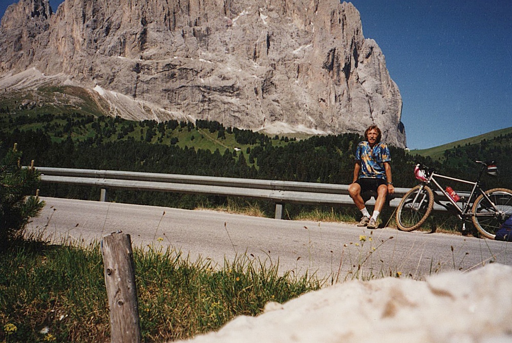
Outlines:
<svg viewBox="0 0 512 343"><path fill-rule="evenodd" d="M224 265L238 256L279 263L281 272L319 278L354 274L412 275L512 265L512 245L460 235L369 230L354 224L287 221L207 210L42 198L47 205L28 225L54 243L87 246L121 230L134 248L175 248L195 262ZM364 238L364 237L365 238Z"/></svg>

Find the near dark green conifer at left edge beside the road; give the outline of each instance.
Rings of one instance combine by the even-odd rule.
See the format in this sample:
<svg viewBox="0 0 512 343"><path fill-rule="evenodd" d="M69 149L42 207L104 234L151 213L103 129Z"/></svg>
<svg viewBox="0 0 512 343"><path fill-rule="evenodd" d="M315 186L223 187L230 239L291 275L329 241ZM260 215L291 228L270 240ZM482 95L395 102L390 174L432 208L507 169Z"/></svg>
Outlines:
<svg viewBox="0 0 512 343"><path fill-rule="evenodd" d="M22 168L22 153L14 148L0 153L0 251L23 231L29 219L45 206L37 196L40 174L33 161Z"/></svg>

